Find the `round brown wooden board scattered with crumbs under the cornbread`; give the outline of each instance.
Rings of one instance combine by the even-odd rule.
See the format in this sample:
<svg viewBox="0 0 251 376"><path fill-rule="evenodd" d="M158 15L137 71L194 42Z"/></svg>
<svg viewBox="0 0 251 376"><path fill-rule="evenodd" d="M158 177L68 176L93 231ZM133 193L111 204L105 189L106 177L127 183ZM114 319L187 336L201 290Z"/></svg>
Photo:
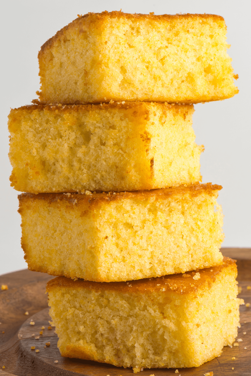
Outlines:
<svg viewBox="0 0 251 376"><path fill-rule="evenodd" d="M245 303L251 303L251 271L249 261L251 260L250 249L222 249L222 253L238 259L238 276L249 276L246 282L239 286ZM227 253L227 254L226 254ZM237 257L236 257L237 256ZM242 258L240 258L240 256ZM21 270L14 273L0 276L0 284L7 284L8 290L0 290L0 376L127 376L133 374L132 368L120 368L109 364L100 364L80 359L62 358L56 346L58 338L54 330L47 329L50 320L47 307L47 296L45 294L46 282L52 279L45 273L37 273L29 270ZM28 311L29 315L24 312ZM30 320L35 325L31 326ZM179 368L178 375L199 376L213 371L216 375L242 375L251 374L251 307L240 306L240 323L238 337L242 338L239 346L224 347L220 357L207 362L200 367ZM43 335L35 339L45 326ZM5 333L2 333L2 332ZM243 332L246 332L244 335ZM49 347L44 347L50 341ZM40 350L36 353L30 347L35 346ZM247 349L244 349L244 348ZM232 360L232 357L236 359ZM57 362L55 362L57 361ZM3 369L3 365L5 368ZM232 370L234 367L234 370ZM175 369L144 369L139 376L155 376L175 374Z"/></svg>

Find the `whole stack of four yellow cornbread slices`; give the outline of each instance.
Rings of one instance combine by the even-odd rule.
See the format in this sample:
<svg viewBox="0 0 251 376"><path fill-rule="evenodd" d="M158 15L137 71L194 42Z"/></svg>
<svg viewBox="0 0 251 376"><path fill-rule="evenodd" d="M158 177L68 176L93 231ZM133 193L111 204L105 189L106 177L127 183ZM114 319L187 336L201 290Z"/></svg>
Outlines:
<svg viewBox="0 0 251 376"><path fill-rule="evenodd" d="M79 16L39 52L40 102L11 110L22 247L62 356L193 367L239 325L219 252L222 188L200 184L193 103L238 92L216 15ZM101 103L100 103L101 102Z"/></svg>

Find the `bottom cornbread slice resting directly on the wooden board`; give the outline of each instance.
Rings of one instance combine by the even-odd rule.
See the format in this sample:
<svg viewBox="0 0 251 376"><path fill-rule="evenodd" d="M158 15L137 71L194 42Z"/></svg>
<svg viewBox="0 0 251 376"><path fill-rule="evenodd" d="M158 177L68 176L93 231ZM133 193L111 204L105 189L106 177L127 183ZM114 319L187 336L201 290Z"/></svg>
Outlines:
<svg viewBox="0 0 251 376"><path fill-rule="evenodd" d="M62 356L122 367L198 367L231 345L239 325L237 268L130 282L47 284Z"/></svg>

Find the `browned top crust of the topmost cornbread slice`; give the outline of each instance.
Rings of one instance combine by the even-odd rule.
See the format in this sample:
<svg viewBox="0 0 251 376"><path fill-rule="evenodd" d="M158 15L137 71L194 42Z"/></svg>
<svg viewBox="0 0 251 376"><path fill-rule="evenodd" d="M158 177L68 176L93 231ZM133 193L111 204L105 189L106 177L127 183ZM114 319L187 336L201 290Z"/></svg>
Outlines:
<svg viewBox="0 0 251 376"><path fill-rule="evenodd" d="M102 22L105 18L125 18L128 20L145 20L150 19L153 21L174 21L179 19L188 19L188 18L212 18L214 21L224 21L224 18L215 15L215 14L162 14L162 15L155 15L154 12L151 12L150 14L131 14L131 13L123 13L118 11L108 12L104 11L101 13L92 13L89 12L88 14L85 14L83 16L80 16L73 20L71 23L69 23L67 26L64 26L61 30L59 30L52 38L48 39L42 46L41 50L38 53L38 58L40 57L40 54L44 52L45 49L52 47L53 43L57 38L59 38L63 33L71 28L75 23L91 23L91 22Z"/></svg>

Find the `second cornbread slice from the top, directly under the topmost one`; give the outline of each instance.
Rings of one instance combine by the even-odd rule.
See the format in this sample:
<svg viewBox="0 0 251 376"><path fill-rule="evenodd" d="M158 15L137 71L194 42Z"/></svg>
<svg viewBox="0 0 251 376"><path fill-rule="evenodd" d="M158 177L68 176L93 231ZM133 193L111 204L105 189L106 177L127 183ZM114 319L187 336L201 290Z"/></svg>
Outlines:
<svg viewBox="0 0 251 376"><path fill-rule="evenodd" d="M135 191L201 181L193 106L127 102L11 110L11 185L30 193Z"/></svg>

